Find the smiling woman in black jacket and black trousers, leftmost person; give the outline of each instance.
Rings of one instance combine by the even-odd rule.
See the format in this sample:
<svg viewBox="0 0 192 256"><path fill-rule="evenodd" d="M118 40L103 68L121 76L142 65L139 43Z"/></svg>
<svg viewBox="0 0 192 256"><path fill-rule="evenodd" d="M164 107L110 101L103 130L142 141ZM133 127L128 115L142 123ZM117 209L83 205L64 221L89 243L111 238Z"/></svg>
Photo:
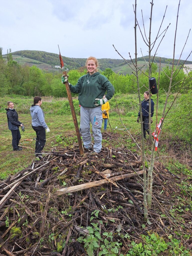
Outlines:
<svg viewBox="0 0 192 256"><path fill-rule="evenodd" d="M8 108L5 110L7 111L7 121L8 121L8 127L9 130L12 133L12 146L13 146L13 151L20 151L22 150L21 147L19 147L19 141L21 138L21 134L19 131L19 126L23 126L21 122L18 120L18 114L14 109L14 104L12 101L7 102Z"/></svg>

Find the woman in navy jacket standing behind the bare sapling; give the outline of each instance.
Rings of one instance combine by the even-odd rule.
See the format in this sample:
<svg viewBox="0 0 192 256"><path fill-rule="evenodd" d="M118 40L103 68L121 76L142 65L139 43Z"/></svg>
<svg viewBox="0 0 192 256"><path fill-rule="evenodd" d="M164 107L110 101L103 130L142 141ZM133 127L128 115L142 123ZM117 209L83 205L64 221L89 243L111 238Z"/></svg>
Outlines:
<svg viewBox="0 0 192 256"><path fill-rule="evenodd" d="M146 138L146 132L149 134L149 91L144 92L144 100L141 102L143 135ZM151 99L151 117L154 113L154 102ZM138 113L137 123L140 119L140 112ZM151 119L151 123L153 120Z"/></svg>

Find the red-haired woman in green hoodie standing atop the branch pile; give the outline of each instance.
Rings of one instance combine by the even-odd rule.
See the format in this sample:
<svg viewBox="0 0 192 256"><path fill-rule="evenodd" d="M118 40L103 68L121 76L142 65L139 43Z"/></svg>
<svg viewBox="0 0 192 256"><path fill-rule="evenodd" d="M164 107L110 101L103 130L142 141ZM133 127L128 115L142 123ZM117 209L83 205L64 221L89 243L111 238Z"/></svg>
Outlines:
<svg viewBox="0 0 192 256"><path fill-rule="evenodd" d="M94 138L93 152L101 152L101 125L102 111L101 105L105 104L113 97L114 87L108 79L97 72L98 61L94 57L89 57L86 61L87 74L80 77L77 84L73 86L69 83L71 92L78 93L79 104L81 105L80 129L83 138L84 148L92 150L90 123L92 124L92 133ZM65 75L61 78L65 83L68 78ZM107 93L105 93L107 91ZM103 99L104 94L106 95Z"/></svg>

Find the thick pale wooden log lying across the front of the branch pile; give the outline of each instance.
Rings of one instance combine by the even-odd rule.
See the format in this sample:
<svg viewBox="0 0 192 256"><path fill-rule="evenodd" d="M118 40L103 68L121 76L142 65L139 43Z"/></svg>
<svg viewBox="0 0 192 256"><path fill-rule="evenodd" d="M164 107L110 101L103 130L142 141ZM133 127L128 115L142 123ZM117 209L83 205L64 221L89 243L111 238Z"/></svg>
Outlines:
<svg viewBox="0 0 192 256"><path fill-rule="evenodd" d="M120 176L112 177L110 180L117 181L117 180L121 180L121 179L125 179L125 178L131 178L135 175L142 175L142 174L143 174L143 171L139 171L139 172L136 172L136 173L128 173L128 174L123 174L123 175L120 175ZM89 183L84 183L84 184L80 184L80 185L76 185L76 186L71 186L71 187L68 187L68 188L61 188L61 189L57 190L55 192L55 194L57 196L65 195L67 193L73 193L73 192L76 192L76 191L80 191L80 190L84 190L84 189L88 189L88 188L92 188L92 187L98 187L98 186L101 186L105 183L108 183L108 180L106 180L106 179L97 180L97 181L94 181L94 182L89 182Z"/></svg>

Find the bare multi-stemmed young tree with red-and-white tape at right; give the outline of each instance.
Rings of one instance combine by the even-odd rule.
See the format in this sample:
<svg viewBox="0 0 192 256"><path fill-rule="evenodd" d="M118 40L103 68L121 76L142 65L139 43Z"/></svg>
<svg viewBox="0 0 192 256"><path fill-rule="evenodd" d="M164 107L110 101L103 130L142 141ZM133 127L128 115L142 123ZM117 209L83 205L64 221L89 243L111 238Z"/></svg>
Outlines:
<svg viewBox="0 0 192 256"><path fill-rule="evenodd" d="M154 38L152 38L152 35L151 35L151 25L152 25L153 0L150 2L150 4L151 4L151 14L150 14L149 33L148 33L148 38L147 38L146 30L145 30L145 26L144 26L144 20L143 20L143 27L144 27L144 31L143 32L142 32L142 30L140 28L140 25L138 23L138 20L137 20L137 13L136 13L137 2L135 0L135 5L134 5L134 13L135 13L135 26L134 26L134 29L135 29L135 61L132 61L132 63L127 61L115 49L118 52L118 54L126 61L126 63L133 69L133 73L135 75L135 83L137 84L137 95L138 95L138 101L139 101L139 104L138 104L139 105L139 109L138 110L141 113L141 119L140 120L142 120L141 88L143 90L143 87L146 87L146 86L145 86L145 84L143 84L140 81L140 76L139 76L141 73L144 73L144 72L142 71L142 69L138 69L138 65L137 65L137 30L136 30L136 28L137 27L139 28L139 30L141 32L141 35L142 35L142 38L143 38L145 44L148 47L149 58L148 58L148 62L146 61L146 66L148 66L148 75L145 74L145 76L148 77L148 87L146 87L146 90L151 92L149 79L151 78L151 74L152 74L152 72L154 71L154 68L155 68L154 63L153 63L154 57L155 57L157 49L158 49L161 41L163 40L163 38L164 38L168 28L169 28L169 25L170 25L169 24L164 29L163 32L160 32L161 26L163 24L164 16L165 16L165 14L164 14L162 22L161 22L161 25L159 27L159 30L157 30L158 31L157 35ZM179 5L180 5L180 1L179 1ZM178 12L179 12L179 5L178 5ZM185 77L183 76L183 74L181 72L181 69L183 68L183 65L184 65L185 62L182 65L179 66L179 61L180 61L180 58L179 58L176 66L174 66L174 62L175 62L175 41L176 41L176 31L177 31L177 23L178 23L178 12L177 12L177 19L176 19L176 29L175 29L175 38L174 38L174 47L173 47L173 61L172 61L173 64L172 64L172 68L169 70L169 73L165 72L165 70L162 69L162 71L164 72L164 74L162 76L165 76L166 79L168 80L168 83L167 83L168 86L167 86L167 88L165 88L166 99L165 99L165 102L164 102L164 108L163 108L162 119L161 119L162 122L161 122L161 126L159 127L160 129L162 129L163 121L166 118L170 108L173 106L173 104L175 102L175 99L176 99L178 93L180 92L180 90L182 89L182 87L184 85L184 82L185 82ZM165 13L166 13L166 10L165 10ZM143 13L142 13L142 18L143 18ZM158 46L154 50L154 54L152 56L152 50L154 49L154 46L156 45L156 43L157 43L158 39L160 39L160 37L161 37L161 40L160 40L160 42L158 42ZM190 56L190 54L189 54L189 56ZM180 57L181 57L181 55L180 55ZM130 55L130 59L132 60L131 55ZM144 58L144 60L145 60L145 58ZM130 64L133 64L133 65L131 66ZM158 89L159 89L160 71L161 71L161 59L160 59L160 64L159 64L159 74L158 74L158 81L157 81ZM172 93L171 90L176 92L176 96L174 97L174 99L172 101L172 104L168 108L167 107L167 102L168 102L169 96ZM156 126L155 127L157 127L157 124L159 123L159 120L157 120L157 116L158 116L158 99L159 99L159 95L158 95L158 92L157 92ZM150 145L151 145L151 150L150 150L151 151L151 158L150 158L150 161L147 160L146 153L145 153L145 150L144 150L145 142L144 142L144 134L143 134L143 122L140 122L140 125L141 125L141 147L138 144L136 144L136 145L141 150L141 155L142 155L142 163L143 163L142 166L143 166L143 177L144 177L143 180L142 180L142 182L143 182L143 191L144 191L144 202L143 202L143 205L144 205L144 219L147 220L147 215L148 215L147 209L151 207L152 197L153 197L153 194L152 194L153 178L152 177L153 177L153 167L154 167L154 158L155 158L155 142L156 142L156 138L155 137L153 138L153 136L152 136L152 129L151 129L151 93L149 93L149 137L150 137ZM126 129L126 127L125 127L125 129ZM129 133L128 130L127 130L127 132ZM129 133L129 135L131 136L130 133ZM155 130L155 135L158 135L158 140L159 140L160 136L161 136L161 132L158 133L158 129L157 128ZM133 137L132 137L132 139L135 142ZM148 172L147 173L146 173L145 162L147 162L147 166L148 166Z"/></svg>

